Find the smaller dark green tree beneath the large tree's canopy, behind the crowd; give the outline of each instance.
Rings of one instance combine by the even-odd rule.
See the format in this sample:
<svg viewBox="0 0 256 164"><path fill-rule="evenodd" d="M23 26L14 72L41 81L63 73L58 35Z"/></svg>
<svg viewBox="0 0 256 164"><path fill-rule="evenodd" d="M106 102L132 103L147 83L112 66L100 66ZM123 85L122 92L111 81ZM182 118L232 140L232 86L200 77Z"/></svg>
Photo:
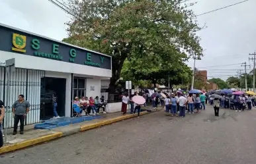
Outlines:
<svg viewBox="0 0 256 164"><path fill-rule="evenodd" d="M189 82L189 76L192 76L191 69L183 62L187 55L179 53L170 54L163 61L161 56L149 55L141 59L130 59L124 62L122 68L122 77L127 80L148 80L154 87L156 84L177 85Z"/></svg>

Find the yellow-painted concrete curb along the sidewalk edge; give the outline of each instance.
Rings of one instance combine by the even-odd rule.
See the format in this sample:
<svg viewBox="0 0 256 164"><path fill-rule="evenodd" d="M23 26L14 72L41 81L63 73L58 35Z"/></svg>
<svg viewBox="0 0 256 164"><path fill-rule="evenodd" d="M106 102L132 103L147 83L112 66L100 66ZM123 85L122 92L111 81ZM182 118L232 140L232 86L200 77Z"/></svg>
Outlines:
<svg viewBox="0 0 256 164"><path fill-rule="evenodd" d="M148 111L143 111L140 113L140 115L146 115L148 114ZM97 123L91 123L91 124L86 124L84 126L80 126L80 128L75 128L73 130L69 130L68 132L55 132L54 134L48 134L46 136L41 136L39 138L33 138L30 140L25 140L24 142L19 142L17 144L11 144L11 145L7 145L7 146L3 146L2 148L0 148L0 154L3 153L7 153L10 151L15 151L15 150L20 150L22 148L26 148L29 146L33 146L36 144L40 144L42 142L47 142L50 140L54 140L56 138L61 138L62 136L69 136L71 134L76 134L77 132L83 132L85 130L90 130L92 128L97 128L99 126L104 126L107 124L112 124L112 123L116 123L118 121L122 121L125 119L130 119L133 117L137 117L137 114L132 114L132 115L123 115L120 117L116 117L113 119L108 119L105 121L99 121Z"/></svg>

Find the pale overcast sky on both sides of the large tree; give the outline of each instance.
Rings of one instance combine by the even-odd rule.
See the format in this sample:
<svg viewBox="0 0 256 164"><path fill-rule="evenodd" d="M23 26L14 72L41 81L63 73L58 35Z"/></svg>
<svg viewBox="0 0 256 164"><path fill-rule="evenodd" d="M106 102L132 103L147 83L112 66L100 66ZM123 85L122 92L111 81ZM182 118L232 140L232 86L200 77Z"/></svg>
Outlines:
<svg viewBox="0 0 256 164"><path fill-rule="evenodd" d="M242 0L198 0L191 9L201 14L239 1ZM199 24L203 26L206 23L208 28L198 32L202 38L200 43L206 50L202 60L196 61L196 67L208 70L208 79L226 80L228 76L237 74L238 69L244 68L240 63L249 63L249 53L256 50L255 6L256 1L249 0L198 16ZM62 40L67 36L64 24L67 20L68 15L48 0L0 0L1 23L42 36ZM252 61L250 63L252 65ZM193 66L192 60L189 66Z"/></svg>

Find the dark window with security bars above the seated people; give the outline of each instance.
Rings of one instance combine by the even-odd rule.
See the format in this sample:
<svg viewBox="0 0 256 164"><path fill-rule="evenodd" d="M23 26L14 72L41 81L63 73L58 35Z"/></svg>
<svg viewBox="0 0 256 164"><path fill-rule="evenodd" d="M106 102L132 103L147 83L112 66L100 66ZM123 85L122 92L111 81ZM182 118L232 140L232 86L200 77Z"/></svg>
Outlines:
<svg viewBox="0 0 256 164"><path fill-rule="evenodd" d="M73 99L86 97L86 78L73 78Z"/></svg>

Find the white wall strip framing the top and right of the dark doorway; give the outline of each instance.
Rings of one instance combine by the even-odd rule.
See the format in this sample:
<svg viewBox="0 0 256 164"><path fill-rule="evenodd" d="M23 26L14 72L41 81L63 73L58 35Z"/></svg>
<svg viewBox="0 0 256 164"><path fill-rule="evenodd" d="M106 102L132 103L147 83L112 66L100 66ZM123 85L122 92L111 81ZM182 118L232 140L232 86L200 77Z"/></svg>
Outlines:
<svg viewBox="0 0 256 164"><path fill-rule="evenodd" d="M62 72L50 72L46 71L46 77L52 78L65 78L66 85L65 85L65 117L70 117L71 114L71 81L72 77L69 73L62 73Z"/></svg>

